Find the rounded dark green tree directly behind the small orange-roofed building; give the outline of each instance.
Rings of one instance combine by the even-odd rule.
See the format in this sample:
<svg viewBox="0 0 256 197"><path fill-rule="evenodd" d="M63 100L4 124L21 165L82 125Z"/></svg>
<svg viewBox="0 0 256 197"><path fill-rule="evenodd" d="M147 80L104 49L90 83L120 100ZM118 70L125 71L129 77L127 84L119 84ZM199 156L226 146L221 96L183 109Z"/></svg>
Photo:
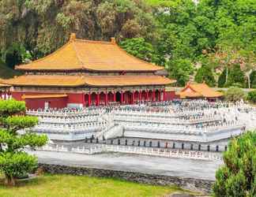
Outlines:
<svg viewBox="0 0 256 197"><path fill-rule="evenodd" d="M201 68L198 69L194 80L198 83L205 82L205 84L208 84L210 87L214 87L216 84L216 80L213 76L213 70L209 67L209 65L201 66Z"/></svg>

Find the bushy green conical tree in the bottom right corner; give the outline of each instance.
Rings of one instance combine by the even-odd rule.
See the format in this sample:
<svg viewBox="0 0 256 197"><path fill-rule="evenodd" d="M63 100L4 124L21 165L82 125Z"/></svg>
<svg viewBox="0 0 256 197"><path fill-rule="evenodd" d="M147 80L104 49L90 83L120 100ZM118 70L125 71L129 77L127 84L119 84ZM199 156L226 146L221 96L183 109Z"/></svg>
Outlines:
<svg viewBox="0 0 256 197"><path fill-rule="evenodd" d="M228 144L224 165L216 171L213 196L256 195L256 132L247 132Z"/></svg>

